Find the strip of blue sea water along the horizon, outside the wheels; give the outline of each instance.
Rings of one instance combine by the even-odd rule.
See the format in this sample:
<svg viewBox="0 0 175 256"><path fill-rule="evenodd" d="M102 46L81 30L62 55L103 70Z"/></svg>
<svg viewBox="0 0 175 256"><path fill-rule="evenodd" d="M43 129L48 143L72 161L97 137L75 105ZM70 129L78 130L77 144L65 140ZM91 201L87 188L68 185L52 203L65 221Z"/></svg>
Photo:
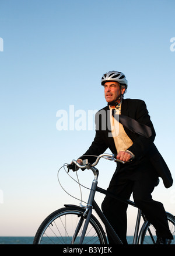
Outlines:
<svg viewBox="0 0 175 256"><path fill-rule="evenodd" d="M1 244L33 244L34 237L0 237ZM128 244L132 244L133 237L127 237Z"/></svg>

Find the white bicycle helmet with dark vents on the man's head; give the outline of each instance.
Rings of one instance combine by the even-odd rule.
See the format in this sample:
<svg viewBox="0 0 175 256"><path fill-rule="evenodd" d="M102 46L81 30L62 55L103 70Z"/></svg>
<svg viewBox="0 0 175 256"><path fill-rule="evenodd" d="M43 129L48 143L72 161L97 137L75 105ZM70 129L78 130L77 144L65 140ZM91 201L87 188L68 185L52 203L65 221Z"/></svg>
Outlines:
<svg viewBox="0 0 175 256"><path fill-rule="evenodd" d="M125 88L128 88L128 81L125 78L125 75L122 72L118 71L108 71L101 78L101 85L104 85L105 82L119 82L121 85L125 85Z"/></svg>

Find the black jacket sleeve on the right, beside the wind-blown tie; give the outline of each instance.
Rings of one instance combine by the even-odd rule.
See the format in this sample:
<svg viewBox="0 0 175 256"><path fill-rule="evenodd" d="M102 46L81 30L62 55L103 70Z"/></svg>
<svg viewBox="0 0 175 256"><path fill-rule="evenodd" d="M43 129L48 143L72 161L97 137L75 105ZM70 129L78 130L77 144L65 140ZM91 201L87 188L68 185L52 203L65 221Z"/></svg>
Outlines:
<svg viewBox="0 0 175 256"><path fill-rule="evenodd" d="M148 153L156 136L155 129L150 120L150 116L144 101L138 101L138 105L135 112L135 120L139 123L149 126L152 130L152 136L150 136L149 138L137 135L136 139L133 141L132 146L128 148L128 150L135 155L135 158L140 158L146 153Z"/></svg>

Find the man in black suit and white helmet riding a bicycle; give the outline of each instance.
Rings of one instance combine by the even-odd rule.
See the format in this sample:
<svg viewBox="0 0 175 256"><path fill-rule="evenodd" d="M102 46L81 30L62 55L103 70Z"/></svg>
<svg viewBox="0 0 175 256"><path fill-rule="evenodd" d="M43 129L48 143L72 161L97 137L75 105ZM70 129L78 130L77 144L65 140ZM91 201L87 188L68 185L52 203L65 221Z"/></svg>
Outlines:
<svg viewBox="0 0 175 256"><path fill-rule="evenodd" d="M117 163L108 191L124 199L129 199L133 193L136 205L143 210L156 229L156 243L169 244L173 236L167 224L164 207L162 203L152 199L151 193L158 177L162 177L166 188L173 184L173 179L153 144L156 134L145 102L124 99L128 83L122 72L107 72L101 78L101 85L104 86L108 106L96 114L96 136L85 155L100 155L109 148L112 153L117 154L117 159L125 161L125 164ZM121 117L124 122L121 122ZM132 124L133 119L142 127L138 123ZM82 156L78 162L82 163L85 158L86 156ZM92 163L95 157L89 157L88 160ZM101 208L122 243L127 244L127 205L106 196ZM110 236L108 241L110 244L114 243Z"/></svg>

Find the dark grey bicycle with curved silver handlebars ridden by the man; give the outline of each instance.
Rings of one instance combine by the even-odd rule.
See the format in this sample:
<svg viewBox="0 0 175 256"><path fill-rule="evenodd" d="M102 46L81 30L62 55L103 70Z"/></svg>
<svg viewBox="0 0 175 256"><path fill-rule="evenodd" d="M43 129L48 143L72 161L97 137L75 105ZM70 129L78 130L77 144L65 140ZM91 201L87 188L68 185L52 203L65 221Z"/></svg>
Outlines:
<svg viewBox="0 0 175 256"><path fill-rule="evenodd" d="M92 210L95 210L108 233L114 238L114 244L122 244L113 227L108 223L100 207L95 202L95 193L100 192L104 195L110 195L128 205L138 207L131 200L118 198L97 186L99 170L95 166L101 157L122 162L117 160L114 154L101 154L93 164L89 164L87 160L84 160L83 165L80 165L75 160L72 160L79 168L91 169L94 174L88 203L86 206L64 205L63 208L55 210L41 223L34 237L33 244L107 244L106 233L99 220L92 214ZM71 166L68 165L68 168L71 168ZM175 244L175 217L168 212L166 212L166 215L171 233L174 236L171 244ZM143 219L142 226L141 218ZM144 213L138 208L132 244L155 244L155 241L156 234L152 224L146 220Z"/></svg>

